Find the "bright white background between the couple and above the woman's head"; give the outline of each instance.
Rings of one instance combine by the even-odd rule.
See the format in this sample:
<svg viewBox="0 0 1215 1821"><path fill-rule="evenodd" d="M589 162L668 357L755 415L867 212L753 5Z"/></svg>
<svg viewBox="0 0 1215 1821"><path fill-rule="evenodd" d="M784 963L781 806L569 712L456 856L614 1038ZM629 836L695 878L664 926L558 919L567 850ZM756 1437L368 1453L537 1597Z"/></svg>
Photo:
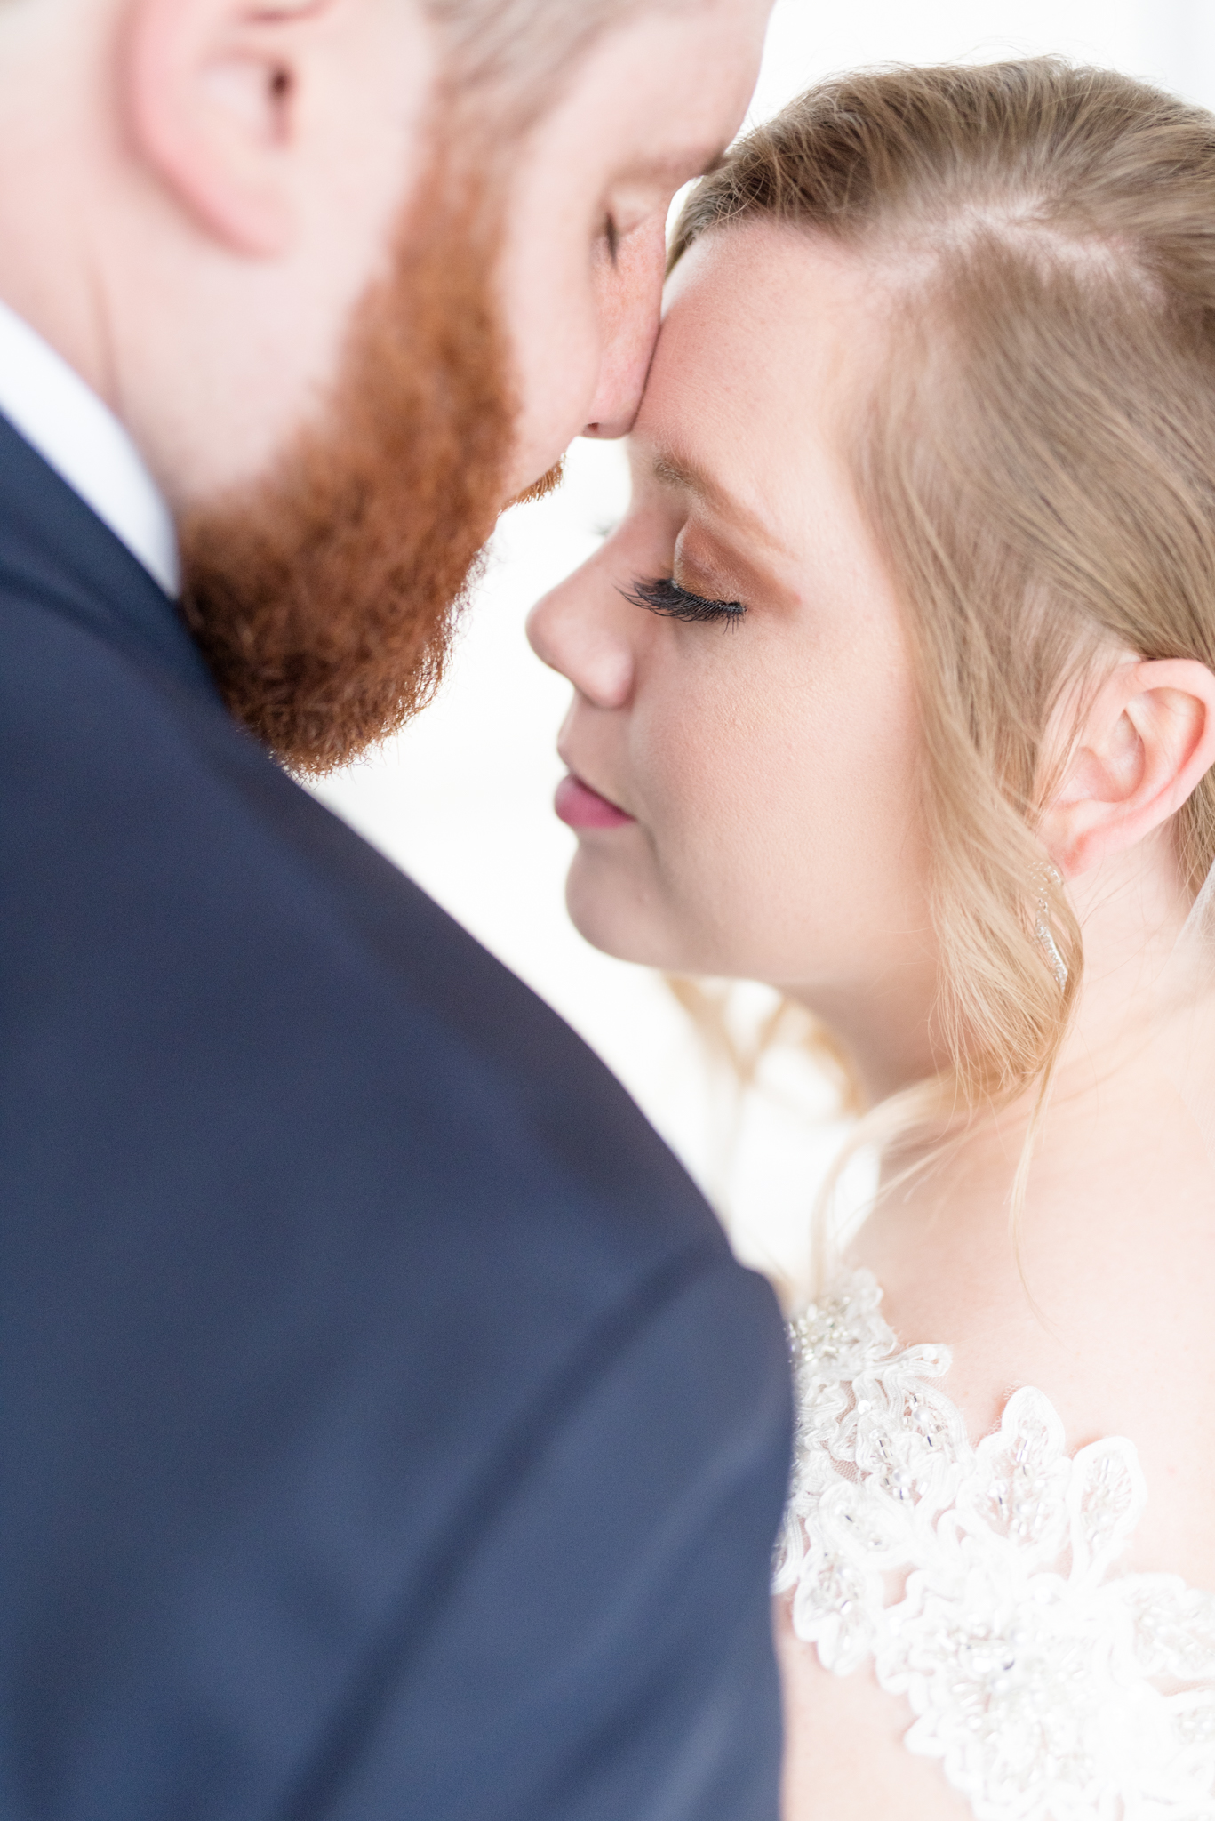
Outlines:
<svg viewBox="0 0 1215 1821"><path fill-rule="evenodd" d="M778 0L750 120L816 78L878 62L1060 51L1215 107L1215 0ZM563 1012L721 1209L743 1256L800 1275L814 1187L843 1125L776 1051L740 1100L667 985L588 949L563 909L572 834L552 816L568 687L530 656L528 606L623 510L618 444L577 443L567 483L512 512L439 699L319 796ZM743 1011L761 1011L760 989Z"/></svg>

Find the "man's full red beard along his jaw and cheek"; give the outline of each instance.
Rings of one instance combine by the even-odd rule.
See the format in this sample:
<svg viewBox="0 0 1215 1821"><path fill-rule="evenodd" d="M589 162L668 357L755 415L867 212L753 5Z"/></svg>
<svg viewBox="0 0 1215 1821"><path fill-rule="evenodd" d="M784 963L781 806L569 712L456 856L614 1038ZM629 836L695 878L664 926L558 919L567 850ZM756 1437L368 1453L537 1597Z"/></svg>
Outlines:
<svg viewBox="0 0 1215 1821"><path fill-rule="evenodd" d="M514 412L495 237L472 206L428 217L359 306L324 417L248 493L179 528L182 614L220 694L301 774L344 765L434 696L501 506Z"/></svg>

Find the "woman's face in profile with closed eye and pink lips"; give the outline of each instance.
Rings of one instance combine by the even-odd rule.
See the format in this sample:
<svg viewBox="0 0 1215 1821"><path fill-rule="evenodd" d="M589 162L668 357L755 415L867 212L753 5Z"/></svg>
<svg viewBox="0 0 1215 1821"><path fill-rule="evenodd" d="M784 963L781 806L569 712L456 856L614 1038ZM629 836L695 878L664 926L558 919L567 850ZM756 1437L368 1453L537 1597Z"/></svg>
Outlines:
<svg viewBox="0 0 1215 1821"><path fill-rule="evenodd" d="M627 960L771 982L862 1051L885 1022L905 1051L934 978L918 716L836 430L880 348L867 284L772 224L685 255L628 517L530 637L574 685L557 812L577 830L579 931Z"/></svg>

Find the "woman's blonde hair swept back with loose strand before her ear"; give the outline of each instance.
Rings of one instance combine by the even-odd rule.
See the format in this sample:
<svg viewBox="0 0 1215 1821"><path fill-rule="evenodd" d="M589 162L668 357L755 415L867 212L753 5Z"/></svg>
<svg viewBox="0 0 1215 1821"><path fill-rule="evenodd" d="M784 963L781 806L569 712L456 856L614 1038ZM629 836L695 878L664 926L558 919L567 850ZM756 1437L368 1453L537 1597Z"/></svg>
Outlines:
<svg viewBox="0 0 1215 1821"><path fill-rule="evenodd" d="M756 219L889 302L849 457L920 666L945 1056L904 1114L1040 1113L1082 972L1047 725L1102 650L1215 666L1215 118L1053 58L840 76L698 186L670 262ZM1197 889L1210 774L1175 834Z"/></svg>

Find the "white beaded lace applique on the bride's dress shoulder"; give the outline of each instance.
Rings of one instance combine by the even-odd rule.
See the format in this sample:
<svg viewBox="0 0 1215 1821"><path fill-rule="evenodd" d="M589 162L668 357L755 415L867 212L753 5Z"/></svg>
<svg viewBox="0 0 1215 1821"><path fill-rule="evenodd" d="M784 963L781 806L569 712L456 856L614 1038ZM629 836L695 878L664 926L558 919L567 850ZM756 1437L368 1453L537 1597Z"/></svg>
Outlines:
<svg viewBox="0 0 1215 1821"><path fill-rule="evenodd" d="M1118 1573L1135 1446L1067 1455L1016 1391L976 1448L851 1271L791 1322L798 1446L776 1592L838 1675L873 1659L980 1821L1215 1821L1215 1595Z"/></svg>

